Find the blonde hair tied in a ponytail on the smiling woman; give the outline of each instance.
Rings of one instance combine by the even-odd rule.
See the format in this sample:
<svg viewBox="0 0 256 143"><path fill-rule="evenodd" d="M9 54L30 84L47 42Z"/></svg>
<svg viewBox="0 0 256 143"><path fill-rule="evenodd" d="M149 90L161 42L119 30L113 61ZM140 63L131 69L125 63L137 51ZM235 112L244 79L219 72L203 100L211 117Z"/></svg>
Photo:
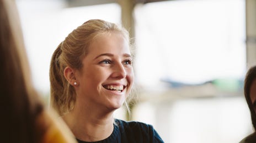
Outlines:
<svg viewBox="0 0 256 143"><path fill-rule="evenodd" d="M76 93L72 85L63 75L63 70L69 66L74 69L83 67L82 59L88 53L88 47L93 39L108 32L120 32L129 41L129 32L119 25L100 19L86 21L73 30L63 42L58 45L52 55L50 64L50 102L61 116L70 112L76 102Z"/></svg>

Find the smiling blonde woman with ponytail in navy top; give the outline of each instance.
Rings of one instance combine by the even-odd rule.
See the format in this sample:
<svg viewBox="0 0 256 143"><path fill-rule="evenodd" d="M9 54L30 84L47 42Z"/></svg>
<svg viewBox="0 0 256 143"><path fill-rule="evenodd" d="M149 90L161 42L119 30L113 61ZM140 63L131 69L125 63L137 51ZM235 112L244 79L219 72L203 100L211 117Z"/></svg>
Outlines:
<svg viewBox="0 0 256 143"><path fill-rule="evenodd" d="M78 142L163 142L152 125L113 117L134 83L130 47L124 27L92 19L53 53L51 105Z"/></svg>

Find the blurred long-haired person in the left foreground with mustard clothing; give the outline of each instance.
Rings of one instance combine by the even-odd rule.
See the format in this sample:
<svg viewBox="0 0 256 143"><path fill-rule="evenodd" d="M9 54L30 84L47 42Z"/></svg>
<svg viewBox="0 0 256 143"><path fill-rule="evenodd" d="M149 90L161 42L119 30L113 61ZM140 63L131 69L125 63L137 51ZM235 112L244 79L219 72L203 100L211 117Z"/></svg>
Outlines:
<svg viewBox="0 0 256 143"><path fill-rule="evenodd" d="M15 1L0 0L0 11L1 142L76 142L31 84Z"/></svg>

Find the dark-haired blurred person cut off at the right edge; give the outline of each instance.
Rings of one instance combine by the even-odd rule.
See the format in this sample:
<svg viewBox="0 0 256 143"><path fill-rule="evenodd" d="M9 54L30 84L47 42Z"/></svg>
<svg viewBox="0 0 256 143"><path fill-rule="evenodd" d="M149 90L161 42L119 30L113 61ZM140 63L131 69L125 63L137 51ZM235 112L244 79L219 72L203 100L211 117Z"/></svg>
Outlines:
<svg viewBox="0 0 256 143"><path fill-rule="evenodd" d="M248 135L240 142L256 142L256 66L251 67L246 74L244 79L244 96L250 109L254 133Z"/></svg>

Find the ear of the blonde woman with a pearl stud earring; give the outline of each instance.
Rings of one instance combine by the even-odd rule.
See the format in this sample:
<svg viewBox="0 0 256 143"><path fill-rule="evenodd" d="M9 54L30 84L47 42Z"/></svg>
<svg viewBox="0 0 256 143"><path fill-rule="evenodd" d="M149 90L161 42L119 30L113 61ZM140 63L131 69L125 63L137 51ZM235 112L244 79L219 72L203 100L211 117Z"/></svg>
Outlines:
<svg viewBox="0 0 256 143"><path fill-rule="evenodd" d="M63 75L65 76L65 79L68 81L68 83L73 86L78 86L78 81L74 69L71 67L66 67L63 71Z"/></svg>

